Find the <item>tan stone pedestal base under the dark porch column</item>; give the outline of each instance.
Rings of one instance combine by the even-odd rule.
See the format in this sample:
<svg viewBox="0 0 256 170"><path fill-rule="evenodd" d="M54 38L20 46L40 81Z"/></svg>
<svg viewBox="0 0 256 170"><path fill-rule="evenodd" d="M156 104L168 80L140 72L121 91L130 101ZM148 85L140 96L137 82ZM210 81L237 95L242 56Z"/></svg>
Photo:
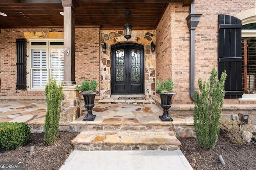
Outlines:
<svg viewBox="0 0 256 170"><path fill-rule="evenodd" d="M76 121L81 115L79 91L76 86L63 86L63 94L60 121Z"/></svg>

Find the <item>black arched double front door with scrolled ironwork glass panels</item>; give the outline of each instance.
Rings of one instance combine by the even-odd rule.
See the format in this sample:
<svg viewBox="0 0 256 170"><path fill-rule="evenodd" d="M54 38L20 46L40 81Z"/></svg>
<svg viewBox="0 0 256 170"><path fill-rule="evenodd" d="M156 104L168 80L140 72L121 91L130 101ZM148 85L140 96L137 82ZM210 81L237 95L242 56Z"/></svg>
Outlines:
<svg viewBox="0 0 256 170"><path fill-rule="evenodd" d="M144 47L122 43L112 47L112 94L144 94Z"/></svg>

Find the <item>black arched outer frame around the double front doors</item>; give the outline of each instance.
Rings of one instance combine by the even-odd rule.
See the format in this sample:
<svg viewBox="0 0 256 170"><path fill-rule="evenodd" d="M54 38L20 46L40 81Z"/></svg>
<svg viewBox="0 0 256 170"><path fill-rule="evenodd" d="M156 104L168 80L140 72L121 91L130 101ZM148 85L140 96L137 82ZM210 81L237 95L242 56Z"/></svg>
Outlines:
<svg viewBox="0 0 256 170"><path fill-rule="evenodd" d="M115 75L114 75L114 70L115 70L115 59L116 59L116 55L115 55L115 50L116 49L120 49L121 47L129 47L129 48L137 48L137 49L140 49L141 50L141 54L140 54L140 57L141 57L141 90L140 92L136 92L136 91L132 91L131 89L128 90L128 92L116 92L116 90L114 90L114 86L116 85L115 83ZM126 51L125 51L126 52ZM127 57L126 57L127 58ZM145 57L144 57L144 46L143 45L140 45L140 44L136 44L136 43L120 43L120 44L116 44L116 45L113 45L111 47L111 94L145 94L144 92L144 89L145 89L145 66L144 66L144 63L145 63ZM128 88L128 86L127 86ZM129 87L131 88L131 87Z"/></svg>

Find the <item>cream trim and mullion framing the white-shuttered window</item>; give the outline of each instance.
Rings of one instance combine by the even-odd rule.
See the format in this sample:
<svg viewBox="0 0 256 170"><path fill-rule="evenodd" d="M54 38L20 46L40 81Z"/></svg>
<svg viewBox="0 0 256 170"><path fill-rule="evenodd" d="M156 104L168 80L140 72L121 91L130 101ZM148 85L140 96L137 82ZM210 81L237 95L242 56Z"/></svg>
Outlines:
<svg viewBox="0 0 256 170"><path fill-rule="evenodd" d="M46 49L46 69L47 69L47 79L49 81L50 77L50 49L64 49L63 45L50 45L50 42L63 42L63 39L27 39L28 41L28 60L27 60L27 84L28 91L44 91L45 88L33 88L32 87L32 49ZM31 45L32 42L46 42L46 45Z"/></svg>

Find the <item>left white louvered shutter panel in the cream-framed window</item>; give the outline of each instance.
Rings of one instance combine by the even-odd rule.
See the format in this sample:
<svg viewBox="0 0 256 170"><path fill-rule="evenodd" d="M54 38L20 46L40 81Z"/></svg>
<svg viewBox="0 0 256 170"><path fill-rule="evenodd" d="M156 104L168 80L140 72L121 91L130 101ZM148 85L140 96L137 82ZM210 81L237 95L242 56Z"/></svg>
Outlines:
<svg viewBox="0 0 256 170"><path fill-rule="evenodd" d="M32 87L44 88L47 83L46 49L32 49Z"/></svg>

